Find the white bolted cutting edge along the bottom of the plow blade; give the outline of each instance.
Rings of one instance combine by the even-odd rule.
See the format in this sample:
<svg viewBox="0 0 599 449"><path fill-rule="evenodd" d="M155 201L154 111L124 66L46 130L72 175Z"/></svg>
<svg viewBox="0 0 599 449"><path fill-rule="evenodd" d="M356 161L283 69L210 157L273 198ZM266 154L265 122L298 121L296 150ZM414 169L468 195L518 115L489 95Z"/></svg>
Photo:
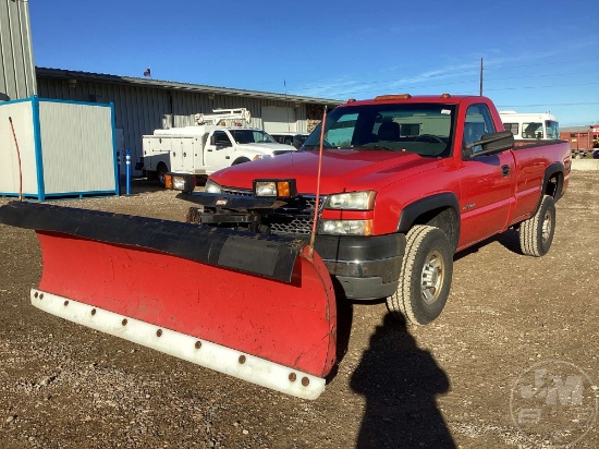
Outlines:
<svg viewBox="0 0 599 449"><path fill-rule="evenodd" d="M70 321L297 398L316 399L325 390L326 381L320 377L68 298L32 289L32 304Z"/></svg>

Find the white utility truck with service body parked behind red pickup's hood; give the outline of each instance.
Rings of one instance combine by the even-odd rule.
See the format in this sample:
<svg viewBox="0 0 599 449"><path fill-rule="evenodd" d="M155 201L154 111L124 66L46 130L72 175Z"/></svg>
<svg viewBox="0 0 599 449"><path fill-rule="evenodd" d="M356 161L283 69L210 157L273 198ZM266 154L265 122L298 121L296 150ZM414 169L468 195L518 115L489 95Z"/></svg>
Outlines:
<svg viewBox="0 0 599 449"><path fill-rule="evenodd" d="M294 151L277 143L262 130L244 128L249 111L215 109L213 114L196 114L195 125L156 130L143 136L143 151L136 169L164 185L168 172L211 174L222 168Z"/></svg>

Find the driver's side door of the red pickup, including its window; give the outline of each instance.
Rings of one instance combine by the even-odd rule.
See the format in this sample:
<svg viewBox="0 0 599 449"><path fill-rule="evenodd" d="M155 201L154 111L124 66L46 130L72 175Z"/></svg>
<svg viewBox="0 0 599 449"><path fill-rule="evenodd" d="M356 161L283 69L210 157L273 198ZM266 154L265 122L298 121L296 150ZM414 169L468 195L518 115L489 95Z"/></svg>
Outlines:
<svg viewBox="0 0 599 449"><path fill-rule="evenodd" d="M494 131L487 105L470 105L466 111L462 147ZM512 150L477 157L476 153L481 149L480 146L474 147L473 157L464 156L459 246L478 242L501 231L508 223L515 202L515 161Z"/></svg>

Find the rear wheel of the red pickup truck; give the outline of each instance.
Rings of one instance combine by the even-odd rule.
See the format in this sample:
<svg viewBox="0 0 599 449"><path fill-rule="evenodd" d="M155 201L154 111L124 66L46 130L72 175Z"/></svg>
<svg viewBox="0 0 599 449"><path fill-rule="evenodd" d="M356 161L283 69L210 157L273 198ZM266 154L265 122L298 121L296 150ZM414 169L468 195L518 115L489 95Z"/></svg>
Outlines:
<svg viewBox="0 0 599 449"><path fill-rule="evenodd" d="M519 248L527 256L541 257L547 254L555 232L555 203L545 195L539 210L519 225Z"/></svg>

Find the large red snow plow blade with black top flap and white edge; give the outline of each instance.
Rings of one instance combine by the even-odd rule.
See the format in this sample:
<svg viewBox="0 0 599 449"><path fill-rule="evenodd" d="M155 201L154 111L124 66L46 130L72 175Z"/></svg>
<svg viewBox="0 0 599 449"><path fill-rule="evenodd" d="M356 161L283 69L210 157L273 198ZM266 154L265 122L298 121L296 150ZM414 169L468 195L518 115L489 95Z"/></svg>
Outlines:
<svg viewBox="0 0 599 449"><path fill-rule="evenodd" d="M334 293L302 240L19 202L0 222L38 235L36 307L300 398L325 389Z"/></svg>

